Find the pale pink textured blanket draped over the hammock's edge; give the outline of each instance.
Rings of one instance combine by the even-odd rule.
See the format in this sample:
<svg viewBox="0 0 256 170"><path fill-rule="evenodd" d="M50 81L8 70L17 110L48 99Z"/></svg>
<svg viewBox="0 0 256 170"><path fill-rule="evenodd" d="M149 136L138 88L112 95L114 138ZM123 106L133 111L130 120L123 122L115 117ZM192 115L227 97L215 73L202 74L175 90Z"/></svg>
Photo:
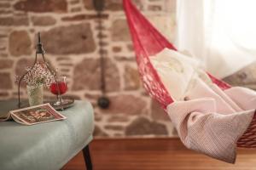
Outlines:
<svg viewBox="0 0 256 170"><path fill-rule="evenodd" d="M167 106L183 144L207 156L235 163L236 142L253 119L256 93L239 87L223 91L197 79L186 99Z"/></svg>

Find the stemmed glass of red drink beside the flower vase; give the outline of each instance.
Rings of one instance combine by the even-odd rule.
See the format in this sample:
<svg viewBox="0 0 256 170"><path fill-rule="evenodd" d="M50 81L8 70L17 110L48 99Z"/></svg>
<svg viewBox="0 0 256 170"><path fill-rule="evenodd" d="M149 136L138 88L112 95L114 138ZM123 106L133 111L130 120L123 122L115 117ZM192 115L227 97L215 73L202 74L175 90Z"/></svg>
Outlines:
<svg viewBox="0 0 256 170"><path fill-rule="evenodd" d="M67 92L66 77L57 77L55 81L51 82L49 89L52 94L57 95L54 105L62 105L63 100L61 99L61 95Z"/></svg>

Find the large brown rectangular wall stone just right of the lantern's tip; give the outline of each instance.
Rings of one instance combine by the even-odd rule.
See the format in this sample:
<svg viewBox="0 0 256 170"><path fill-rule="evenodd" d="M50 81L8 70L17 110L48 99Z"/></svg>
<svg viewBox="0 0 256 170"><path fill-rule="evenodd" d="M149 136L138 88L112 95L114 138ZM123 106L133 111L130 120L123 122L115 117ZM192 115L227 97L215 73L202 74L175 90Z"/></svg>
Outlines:
<svg viewBox="0 0 256 170"><path fill-rule="evenodd" d="M86 54L96 50L90 24L58 26L42 32L44 49L49 54Z"/></svg>

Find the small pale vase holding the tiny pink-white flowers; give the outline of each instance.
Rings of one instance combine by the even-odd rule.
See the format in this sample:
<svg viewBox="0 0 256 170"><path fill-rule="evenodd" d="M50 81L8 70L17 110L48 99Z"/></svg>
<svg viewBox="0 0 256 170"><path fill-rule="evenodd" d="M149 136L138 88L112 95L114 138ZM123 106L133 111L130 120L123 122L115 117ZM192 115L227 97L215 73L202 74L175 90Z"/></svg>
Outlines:
<svg viewBox="0 0 256 170"><path fill-rule="evenodd" d="M38 86L26 86L27 96L29 105L42 105L43 104L43 93L44 86L43 84Z"/></svg>

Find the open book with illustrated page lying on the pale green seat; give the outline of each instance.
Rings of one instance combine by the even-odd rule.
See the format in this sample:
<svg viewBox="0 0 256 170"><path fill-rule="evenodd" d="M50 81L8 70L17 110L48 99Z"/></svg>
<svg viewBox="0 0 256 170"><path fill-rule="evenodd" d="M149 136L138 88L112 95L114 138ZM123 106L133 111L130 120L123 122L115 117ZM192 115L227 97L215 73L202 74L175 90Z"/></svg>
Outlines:
<svg viewBox="0 0 256 170"><path fill-rule="evenodd" d="M66 116L55 111L55 109L47 103L9 111L7 114L0 116L0 122L13 119L20 124L34 125L42 122L64 120L66 118Z"/></svg>

